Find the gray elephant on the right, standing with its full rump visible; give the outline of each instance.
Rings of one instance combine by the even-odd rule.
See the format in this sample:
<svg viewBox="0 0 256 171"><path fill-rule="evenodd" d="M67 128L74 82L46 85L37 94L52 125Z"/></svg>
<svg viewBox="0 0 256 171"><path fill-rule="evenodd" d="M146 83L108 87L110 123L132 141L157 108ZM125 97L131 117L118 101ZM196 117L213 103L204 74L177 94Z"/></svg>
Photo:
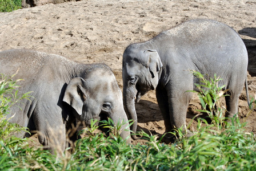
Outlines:
<svg viewBox="0 0 256 171"><path fill-rule="evenodd" d="M166 132L181 128L192 93L198 83L190 70L223 80L219 86L229 89L226 117L238 112L238 97L243 84L247 89L247 51L237 32L217 21L195 19L163 31L153 39L128 46L123 54L123 101L131 130L137 129L134 107L150 89L156 90L157 101L165 121ZM190 136L189 133L188 136ZM135 136L132 136L136 139Z"/></svg>

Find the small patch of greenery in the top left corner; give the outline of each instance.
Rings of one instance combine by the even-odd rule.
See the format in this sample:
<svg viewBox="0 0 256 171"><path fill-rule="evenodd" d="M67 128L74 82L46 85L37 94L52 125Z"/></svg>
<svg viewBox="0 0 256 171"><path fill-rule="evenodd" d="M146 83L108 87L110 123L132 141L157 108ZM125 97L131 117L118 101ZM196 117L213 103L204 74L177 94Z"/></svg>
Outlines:
<svg viewBox="0 0 256 171"><path fill-rule="evenodd" d="M21 9L22 0L0 0L0 13Z"/></svg>

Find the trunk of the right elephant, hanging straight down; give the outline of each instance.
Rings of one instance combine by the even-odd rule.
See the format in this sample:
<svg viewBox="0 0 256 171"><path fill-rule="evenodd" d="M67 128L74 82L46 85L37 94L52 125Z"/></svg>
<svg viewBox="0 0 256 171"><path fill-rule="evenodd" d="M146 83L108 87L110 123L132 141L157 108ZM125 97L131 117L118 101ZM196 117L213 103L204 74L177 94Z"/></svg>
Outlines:
<svg viewBox="0 0 256 171"><path fill-rule="evenodd" d="M135 101L134 101L135 95L136 95L135 91L129 90L129 88L127 88L126 86L123 87L124 108L125 108L125 112L127 114L128 119L129 120L131 119L134 121L133 125L131 125L131 131L133 131L134 133L136 133L137 131L137 124L138 124L137 113L135 110ZM136 135L131 135L131 137L134 140L139 139L139 137L137 137Z"/></svg>

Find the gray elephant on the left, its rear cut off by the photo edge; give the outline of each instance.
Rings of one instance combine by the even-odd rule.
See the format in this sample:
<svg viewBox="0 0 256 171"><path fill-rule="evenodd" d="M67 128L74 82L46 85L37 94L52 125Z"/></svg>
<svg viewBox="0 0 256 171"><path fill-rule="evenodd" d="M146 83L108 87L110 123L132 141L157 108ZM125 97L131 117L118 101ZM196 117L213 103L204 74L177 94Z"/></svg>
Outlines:
<svg viewBox="0 0 256 171"><path fill-rule="evenodd" d="M53 152L66 146L66 131L75 119L90 124L91 119L110 117L115 124L127 122L122 92L113 72L105 64L79 64L62 56L30 50L0 52L0 73L13 75L19 94L30 93L31 101L23 99L11 108L10 119L30 131L39 132L39 142ZM129 127L123 125L122 130ZM129 128L128 128L129 129ZM17 135L24 136L24 135ZM121 136L130 143L130 132Z"/></svg>

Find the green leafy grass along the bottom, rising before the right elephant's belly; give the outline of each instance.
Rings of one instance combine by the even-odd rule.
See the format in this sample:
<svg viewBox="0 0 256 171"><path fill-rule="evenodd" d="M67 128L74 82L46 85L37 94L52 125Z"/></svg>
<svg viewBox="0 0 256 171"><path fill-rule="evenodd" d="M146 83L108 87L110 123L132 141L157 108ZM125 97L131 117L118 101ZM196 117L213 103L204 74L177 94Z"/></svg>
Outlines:
<svg viewBox="0 0 256 171"><path fill-rule="evenodd" d="M222 88L217 84L219 78L215 76L208 82L203 79L203 75L194 74L202 80L201 85L206 86L198 95L203 101L202 112L209 113L213 122L202 124L203 119L198 119L197 131L189 138L166 145L158 141L157 136L141 132L143 138L148 140L147 143L131 145L126 144L117 134L120 125L112 127L110 120L104 121L103 125L110 128L110 136L106 137L102 133L94 133L99 127L95 125L96 121L91 121L91 127L83 130L85 138L77 141L74 153L68 155L65 152L61 158L46 150L29 148L25 139L18 139L22 143L13 144L10 150L5 150L6 142L1 143L0 170L256 169L253 133L245 131L246 124L241 123L237 116L229 122L224 117L221 119L224 109L218 105L214 107L218 104L218 97L223 95ZM1 99L3 97L1 94ZM2 122L5 119L1 119ZM225 128L221 123L225 123ZM178 133L179 137L184 137L181 129Z"/></svg>

